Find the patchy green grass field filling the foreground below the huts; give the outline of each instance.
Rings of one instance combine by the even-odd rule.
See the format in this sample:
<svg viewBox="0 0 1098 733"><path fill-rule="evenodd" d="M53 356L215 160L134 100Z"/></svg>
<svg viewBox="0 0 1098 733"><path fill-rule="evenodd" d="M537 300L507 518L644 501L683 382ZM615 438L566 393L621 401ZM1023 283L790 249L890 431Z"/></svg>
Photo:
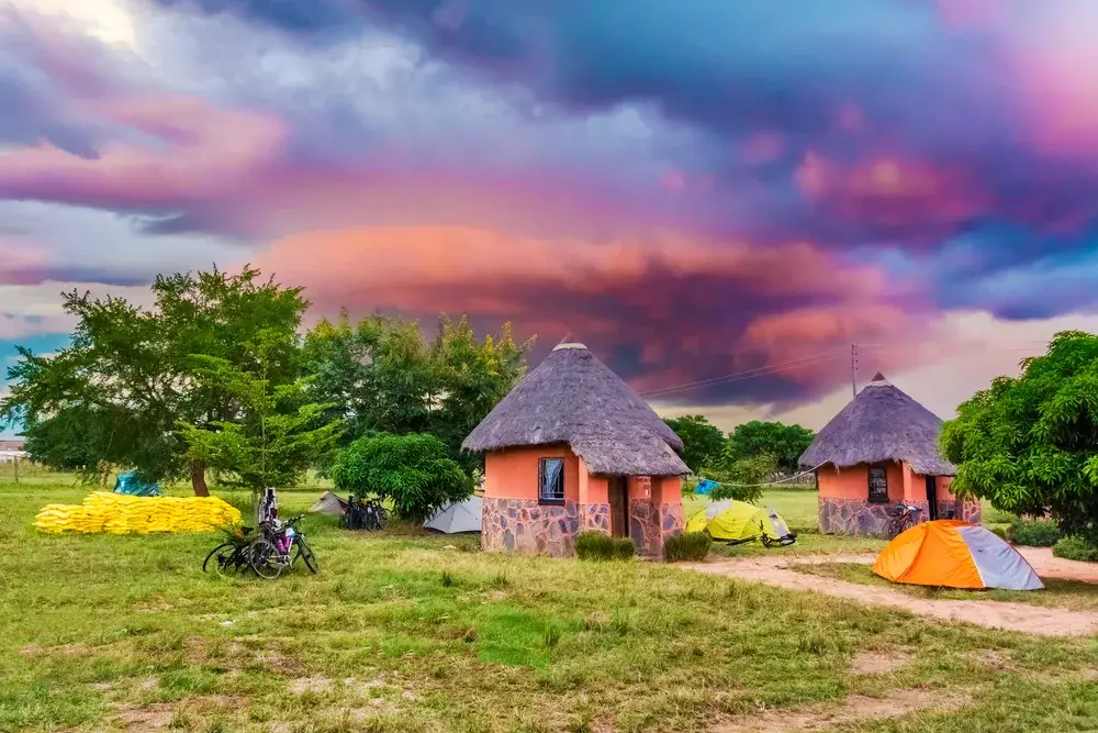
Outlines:
<svg viewBox="0 0 1098 733"><path fill-rule="evenodd" d="M34 532L43 504L86 493L51 477L0 481L0 731L716 731L763 709L911 693L930 702L844 730L1098 720L1094 640L930 622L658 563L345 533L320 517L304 529L321 575L277 581L203 575L214 535ZM316 493L282 492L283 512ZM809 501L781 498L791 522L815 501L799 493ZM866 653L909 662L855 675Z"/></svg>

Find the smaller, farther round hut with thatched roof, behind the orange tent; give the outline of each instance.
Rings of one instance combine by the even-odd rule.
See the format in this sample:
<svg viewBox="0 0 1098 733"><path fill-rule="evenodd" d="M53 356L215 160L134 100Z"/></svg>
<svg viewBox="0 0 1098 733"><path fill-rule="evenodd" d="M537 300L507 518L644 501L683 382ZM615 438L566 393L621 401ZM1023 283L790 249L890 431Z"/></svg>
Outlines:
<svg viewBox="0 0 1098 733"><path fill-rule="evenodd" d="M800 456L818 467L820 532L886 537L890 512L919 507L920 521L979 523L979 503L950 493L956 467L938 452L942 420L879 373Z"/></svg>

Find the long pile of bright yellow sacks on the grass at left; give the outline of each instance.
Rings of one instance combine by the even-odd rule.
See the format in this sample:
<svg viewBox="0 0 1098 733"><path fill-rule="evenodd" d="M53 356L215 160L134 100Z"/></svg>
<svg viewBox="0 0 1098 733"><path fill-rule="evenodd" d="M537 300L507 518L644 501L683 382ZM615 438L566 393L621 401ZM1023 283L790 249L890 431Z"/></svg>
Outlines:
<svg viewBox="0 0 1098 733"><path fill-rule="evenodd" d="M152 534L213 532L237 525L240 512L216 497L132 497L96 491L82 504L48 504L34 518L41 532Z"/></svg>

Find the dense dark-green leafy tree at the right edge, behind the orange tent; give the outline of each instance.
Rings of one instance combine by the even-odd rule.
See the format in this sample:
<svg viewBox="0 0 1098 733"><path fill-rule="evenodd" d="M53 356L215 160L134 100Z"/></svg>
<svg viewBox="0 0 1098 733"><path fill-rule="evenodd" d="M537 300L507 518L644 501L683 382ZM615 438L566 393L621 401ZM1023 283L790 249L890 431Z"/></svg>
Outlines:
<svg viewBox="0 0 1098 733"><path fill-rule="evenodd" d="M1016 514L1051 514L1098 546L1098 336L1057 333L957 407L940 447L957 466L951 490Z"/></svg>

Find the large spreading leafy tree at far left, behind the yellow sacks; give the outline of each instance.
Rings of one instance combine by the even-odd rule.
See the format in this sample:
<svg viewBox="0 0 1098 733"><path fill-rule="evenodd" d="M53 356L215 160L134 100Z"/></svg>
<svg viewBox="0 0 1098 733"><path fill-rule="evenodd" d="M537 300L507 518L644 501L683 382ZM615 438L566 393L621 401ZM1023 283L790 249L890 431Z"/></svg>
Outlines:
<svg viewBox="0 0 1098 733"><path fill-rule="evenodd" d="M244 369L247 344L262 331L292 336L307 303L245 267L157 277L154 304L92 298L72 291L63 308L76 321L71 344L53 356L20 349L9 369L11 393L0 421L22 427L32 459L100 477L111 465L135 467L146 480L190 476L208 493L205 465L188 457L180 423L219 430L233 420L236 398L195 378L193 355ZM298 347L284 337L270 357L268 378L296 376Z"/></svg>

